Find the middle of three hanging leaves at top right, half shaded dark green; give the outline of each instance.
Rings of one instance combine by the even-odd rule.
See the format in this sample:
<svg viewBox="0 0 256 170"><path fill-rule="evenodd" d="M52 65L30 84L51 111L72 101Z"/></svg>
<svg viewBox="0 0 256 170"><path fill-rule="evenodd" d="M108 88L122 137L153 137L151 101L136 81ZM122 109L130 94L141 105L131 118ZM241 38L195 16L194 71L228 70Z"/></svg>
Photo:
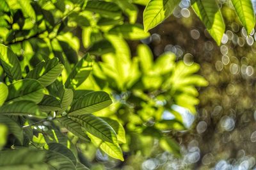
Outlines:
<svg viewBox="0 0 256 170"><path fill-rule="evenodd" d="M196 15L198 15L200 20L204 23L209 34L215 42L220 45L225 31L225 24L216 1L195 0L195 2L192 3L192 7Z"/></svg>

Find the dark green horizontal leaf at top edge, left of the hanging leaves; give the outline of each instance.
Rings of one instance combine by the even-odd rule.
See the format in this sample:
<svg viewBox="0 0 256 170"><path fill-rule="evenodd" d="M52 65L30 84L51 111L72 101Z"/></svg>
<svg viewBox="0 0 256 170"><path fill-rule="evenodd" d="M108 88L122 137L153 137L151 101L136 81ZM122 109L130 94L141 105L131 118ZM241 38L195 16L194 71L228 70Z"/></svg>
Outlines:
<svg viewBox="0 0 256 170"><path fill-rule="evenodd" d="M122 12L115 3L105 1L88 1L84 10L99 13L103 17L116 18L121 17Z"/></svg>

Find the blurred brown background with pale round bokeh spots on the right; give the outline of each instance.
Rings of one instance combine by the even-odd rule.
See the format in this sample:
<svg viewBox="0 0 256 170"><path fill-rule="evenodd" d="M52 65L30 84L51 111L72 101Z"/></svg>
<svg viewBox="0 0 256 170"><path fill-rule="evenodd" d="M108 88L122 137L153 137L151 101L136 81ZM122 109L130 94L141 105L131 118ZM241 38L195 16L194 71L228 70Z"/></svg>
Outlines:
<svg viewBox="0 0 256 170"><path fill-rule="evenodd" d="M138 22L142 23L144 7L139 7ZM150 38L141 40L150 46L154 58L171 51L188 65L198 63L200 75L209 82L209 86L199 89L200 104L193 124L189 130L175 134L181 157L153 148L149 157L132 155L120 169L256 167L255 31L247 36L244 27L237 24L234 11L223 6L227 25L219 47L188 7L189 2L182 1L171 17L150 30ZM141 42L129 45L135 52ZM108 164L106 167L111 167Z"/></svg>

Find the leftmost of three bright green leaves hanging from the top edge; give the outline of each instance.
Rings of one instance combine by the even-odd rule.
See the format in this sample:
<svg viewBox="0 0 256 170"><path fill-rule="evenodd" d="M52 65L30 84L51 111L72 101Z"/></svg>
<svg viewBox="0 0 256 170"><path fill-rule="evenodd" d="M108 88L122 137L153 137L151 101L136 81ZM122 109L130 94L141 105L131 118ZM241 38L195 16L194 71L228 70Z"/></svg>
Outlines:
<svg viewBox="0 0 256 170"><path fill-rule="evenodd" d="M152 29L169 17L180 0L151 0L143 12L144 30Z"/></svg>

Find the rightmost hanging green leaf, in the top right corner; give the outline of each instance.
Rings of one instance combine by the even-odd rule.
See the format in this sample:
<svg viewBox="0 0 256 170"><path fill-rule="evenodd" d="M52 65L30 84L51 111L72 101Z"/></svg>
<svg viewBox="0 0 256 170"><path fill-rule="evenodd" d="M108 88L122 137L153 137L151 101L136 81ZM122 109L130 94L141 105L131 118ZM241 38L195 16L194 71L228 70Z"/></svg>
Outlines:
<svg viewBox="0 0 256 170"><path fill-rule="evenodd" d="M255 14L251 0L231 0L239 20L249 35L255 26Z"/></svg>

